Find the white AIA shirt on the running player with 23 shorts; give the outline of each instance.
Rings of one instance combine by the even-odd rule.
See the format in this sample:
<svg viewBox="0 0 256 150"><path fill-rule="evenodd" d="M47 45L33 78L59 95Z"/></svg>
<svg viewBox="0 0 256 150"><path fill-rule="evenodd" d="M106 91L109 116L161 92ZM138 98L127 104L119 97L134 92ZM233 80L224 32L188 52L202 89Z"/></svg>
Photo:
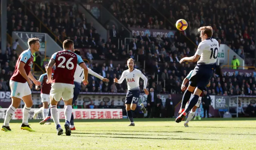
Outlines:
<svg viewBox="0 0 256 150"><path fill-rule="evenodd" d="M144 80L144 89L146 89L148 79L138 69L134 69L132 72L130 72L129 69L125 70L122 73L121 78L118 80L118 83L121 84L124 81L124 79L126 79L128 90L136 90L140 89L140 78Z"/></svg>

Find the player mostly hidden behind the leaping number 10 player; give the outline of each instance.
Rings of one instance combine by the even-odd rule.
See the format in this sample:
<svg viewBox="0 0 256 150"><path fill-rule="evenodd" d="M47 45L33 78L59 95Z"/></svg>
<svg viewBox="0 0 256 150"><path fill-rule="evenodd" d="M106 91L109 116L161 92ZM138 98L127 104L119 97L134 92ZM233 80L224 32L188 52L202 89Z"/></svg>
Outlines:
<svg viewBox="0 0 256 150"><path fill-rule="evenodd" d="M187 77L183 80L182 85L181 85L181 90L182 90L182 91L185 91L185 90L186 90L186 83L187 83L188 80L190 79L192 73L193 73L193 70L191 70L190 73L187 75ZM208 83L207 87L210 87L210 82ZM198 103L196 103L196 105L193 107L193 109L192 109L192 110L190 111L190 113L188 114L188 118L187 118L186 122L184 123L184 126L185 126L185 127L188 127L188 122L189 122L190 120L192 120L192 118L194 117L196 111L198 111L197 108L199 108L199 106L200 106L200 103L201 103L201 100L202 100L202 96L203 96L203 93L201 93L201 95L200 95L200 97L199 97L199 99L198 99ZM193 94L191 93L190 99L191 99L192 97L193 97ZM188 101L188 102L189 102L189 101ZM187 104L188 104L188 103L187 103ZM199 109L200 109L200 108L199 108ZM195 117L196 117L196 116L195 116ZM201 120L200 114L199 114L198 118L199 118L199 120Z"/></svg>

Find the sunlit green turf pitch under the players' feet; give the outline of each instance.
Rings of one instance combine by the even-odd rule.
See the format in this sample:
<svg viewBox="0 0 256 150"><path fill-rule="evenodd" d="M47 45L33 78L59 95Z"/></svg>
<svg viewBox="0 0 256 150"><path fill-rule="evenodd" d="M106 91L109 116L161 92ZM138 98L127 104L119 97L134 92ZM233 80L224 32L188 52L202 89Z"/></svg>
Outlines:
<svg viewBox="0 0 256 150"><path fill-rule="evenodd" d="M136 126L127 126L128 119L75 120L71 136L58 136L54 123L35 121L30 124L37 132L28 132L20 130L21 120L11 120L13 131L0 132L0 150L256 149L256 118L192 120L188 128L174 119L134 119Z"/></svg>

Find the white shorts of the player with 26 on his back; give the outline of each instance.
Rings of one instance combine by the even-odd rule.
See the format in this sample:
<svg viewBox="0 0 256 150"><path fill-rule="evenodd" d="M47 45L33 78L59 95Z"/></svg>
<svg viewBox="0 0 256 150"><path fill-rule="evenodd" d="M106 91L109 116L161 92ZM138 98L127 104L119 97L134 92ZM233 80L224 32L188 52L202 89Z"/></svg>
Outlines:
<svg viewBox="0 0 256 150"><path fill-rule="evenodd" d="M68 83L52 83L52 89L50 91L50 96L55 99L55 101L68 101L74 97L74 87L75 85Z"/></svg>

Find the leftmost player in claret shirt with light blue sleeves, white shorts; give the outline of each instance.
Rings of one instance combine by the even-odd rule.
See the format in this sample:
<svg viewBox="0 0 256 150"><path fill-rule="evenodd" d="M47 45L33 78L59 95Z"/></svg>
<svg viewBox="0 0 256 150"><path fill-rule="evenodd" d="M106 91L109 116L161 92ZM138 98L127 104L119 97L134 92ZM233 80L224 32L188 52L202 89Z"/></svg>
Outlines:
<svg viewBox="0 0 256 150"><path fill-rule="evenodd" d="M11 131L9 122L16 109L20 106L21 99L24 101L25 105L23 108L22 124L20 128L23 130L28 130L30 132L35 132L35 130L30 128L30 126L28 125L29 112L33 105L30 89L32 88L33 83L35 85L41 85L41 82L34 78L32 73L30 72L30 69L33 66L33 54L36 51L39 51L40 48L39 39L28 39L28 45L29 49L23 51L20 54L18 61L15 65L14 73L10 79L12 104L6 111L4 125L2 126L2 130L5 132ZM30 79L33 81L33 83Z"/></svg>

